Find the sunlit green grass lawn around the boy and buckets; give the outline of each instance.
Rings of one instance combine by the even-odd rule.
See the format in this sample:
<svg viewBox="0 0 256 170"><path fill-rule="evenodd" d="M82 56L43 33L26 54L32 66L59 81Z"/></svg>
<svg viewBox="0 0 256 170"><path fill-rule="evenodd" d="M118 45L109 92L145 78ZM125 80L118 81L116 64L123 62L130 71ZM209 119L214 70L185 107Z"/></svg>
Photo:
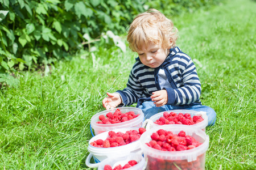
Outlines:
<svg viewBox="0 0 256 170"><path fill-rule="evenodd" d="M256 169L256 2L226 1L174 20L177 44L202 84L201 101L217 113L206 169ZM89 169L90 118L106 92L126 86L135 53L101 47L0 91L0 169Z"/></svg>

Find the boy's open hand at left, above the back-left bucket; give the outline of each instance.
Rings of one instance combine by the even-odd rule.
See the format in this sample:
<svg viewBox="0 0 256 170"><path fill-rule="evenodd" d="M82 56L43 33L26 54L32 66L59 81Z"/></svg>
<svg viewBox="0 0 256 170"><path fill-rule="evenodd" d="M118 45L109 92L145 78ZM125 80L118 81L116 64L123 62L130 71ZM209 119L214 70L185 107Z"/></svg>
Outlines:
<svg viewBox="0 0 256 170"><path fill-rule="evenodd" d="M107 95L108 97L102 100L103 107L106 108L106 110L115 108L122 103L122 99L119 94L107 93Z"/></svg>

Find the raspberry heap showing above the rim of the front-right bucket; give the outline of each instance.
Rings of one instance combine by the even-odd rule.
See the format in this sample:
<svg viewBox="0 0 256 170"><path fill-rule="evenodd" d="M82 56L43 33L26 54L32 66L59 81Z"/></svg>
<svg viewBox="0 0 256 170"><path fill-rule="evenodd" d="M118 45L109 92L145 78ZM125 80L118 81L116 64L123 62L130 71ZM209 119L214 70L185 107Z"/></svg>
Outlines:
<svg viewBox="0 0 256 170"><path fill-rule="evenodd" d="M186 135L183 130L179 134L174 134L172 131L159 129L151 134L151 139L146 145L162 151L190 150L202 144L190 135Z"/></svg>

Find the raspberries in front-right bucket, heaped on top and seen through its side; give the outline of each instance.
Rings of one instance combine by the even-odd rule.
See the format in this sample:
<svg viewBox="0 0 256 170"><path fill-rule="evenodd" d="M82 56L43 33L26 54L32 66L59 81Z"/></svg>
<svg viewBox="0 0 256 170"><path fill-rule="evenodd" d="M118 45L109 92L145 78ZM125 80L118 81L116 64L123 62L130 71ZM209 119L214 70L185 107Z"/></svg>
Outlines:
<svg viewBox="0 0 256 170"><path fill-rule="evenodd" d="M146 143L146 145L162 151L183 151L190 150L202 143L196 141L195 138L190 135L186 135L185 131L180 131L179 134L174 134L171 131L160 129L151 134L152 141ZM145 156L145 155L144 155ZM192 162L184 160L168 160L164 158L155 158L148 154L146 155L148 160L147 170L169 170L169 169L186 169L186 170L200 170L204 169L205 155L201 154L197 156L197 159Z"/></svg>

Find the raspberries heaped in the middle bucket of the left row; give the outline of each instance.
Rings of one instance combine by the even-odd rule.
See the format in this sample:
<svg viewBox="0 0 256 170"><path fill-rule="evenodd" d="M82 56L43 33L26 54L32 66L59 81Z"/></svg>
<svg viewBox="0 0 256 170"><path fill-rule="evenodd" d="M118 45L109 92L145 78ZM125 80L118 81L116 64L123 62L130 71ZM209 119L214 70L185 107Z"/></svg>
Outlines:
<svg viewBox="0 0 256 170"><path fill-rule="evenodd" d="M94 147L117 147L129 144L131 142L137 141L141 135L146 131L145 128L139 128L137 130L128 130L125 133L118 131L115 133L114 131L109 131L108 137L105 140L97 139L90 143L90 145Z"/></svg>

